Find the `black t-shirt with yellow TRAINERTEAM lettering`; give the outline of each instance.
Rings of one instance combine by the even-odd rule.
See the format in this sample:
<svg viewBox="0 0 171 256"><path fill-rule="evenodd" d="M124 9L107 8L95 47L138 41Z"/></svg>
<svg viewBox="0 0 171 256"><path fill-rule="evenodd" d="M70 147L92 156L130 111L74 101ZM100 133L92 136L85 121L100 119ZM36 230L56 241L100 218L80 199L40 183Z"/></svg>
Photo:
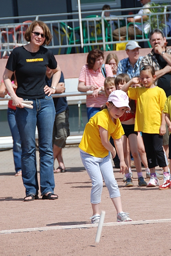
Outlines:
<svg viewBox="0 0 171 256"><path fill-rule="evenodd" d="M57 61L51 50L40 46L38 52L29 52L24 46L11 52L6 68L15 71L17 78L16 95L20 98L42 98L46 96L46 67L56 69Z"/></svg>

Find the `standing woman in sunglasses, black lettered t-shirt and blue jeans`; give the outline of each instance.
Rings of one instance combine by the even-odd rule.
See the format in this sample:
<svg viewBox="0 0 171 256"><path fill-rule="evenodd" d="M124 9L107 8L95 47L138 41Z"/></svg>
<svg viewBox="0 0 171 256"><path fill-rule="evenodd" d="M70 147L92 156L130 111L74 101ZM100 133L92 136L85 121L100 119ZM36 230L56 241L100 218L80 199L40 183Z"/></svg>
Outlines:
<svg viewBox="0 0 171 256"><path fill-rule="evenodd" d="M44 48L51 42L48 26L42 21L33 21L25 32L27 45L17 47L10 54L4 72L4 83L17 107L16 122L22 145L22 180L26 188L24 201L38 199L35 130L39 133L40 154L40 191L42 199L57 199L53 194L55 187L53 176L52 131L55 108L51 94L61 76L61 69L53 53ZM53 72L51 87L45 83L46 67ZM15 71L17 91L13 91L11 76ZM33 101L33 109L24 108L23 101Z"/></svg>

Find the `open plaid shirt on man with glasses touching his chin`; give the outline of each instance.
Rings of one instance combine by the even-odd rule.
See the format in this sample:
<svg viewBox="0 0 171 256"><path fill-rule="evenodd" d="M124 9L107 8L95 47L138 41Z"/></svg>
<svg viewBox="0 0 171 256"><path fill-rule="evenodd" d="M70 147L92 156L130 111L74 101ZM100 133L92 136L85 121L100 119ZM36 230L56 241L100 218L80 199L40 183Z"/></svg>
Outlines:
<svg viewBox="0 0 171 256"><path fill-rule="evenodd" d="M171 49L165 46L165 50L167 53L171 54ZM152 65L155 69L155 71L160 70L160 65L158 64L158 61L156 59L156 56L154 55L154 50L152 50L149 54L145 55L141 61L140 64L140 70L145 65ZM157 80L155 81L155 84L157 85Z"/></svg>

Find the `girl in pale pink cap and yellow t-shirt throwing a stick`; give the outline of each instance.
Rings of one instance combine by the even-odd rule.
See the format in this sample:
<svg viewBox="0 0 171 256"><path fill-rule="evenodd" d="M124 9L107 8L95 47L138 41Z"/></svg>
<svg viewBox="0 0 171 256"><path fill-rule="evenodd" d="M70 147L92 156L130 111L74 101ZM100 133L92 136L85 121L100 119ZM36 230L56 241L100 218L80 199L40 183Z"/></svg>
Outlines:
<svg viewBox="0 0 171 256"><path fill-rule="evenodd" d="M127 166L123 156L123 146L121 136L124 134L119 117L125 110L130 109L129 99L123 91L113 91L108 97L104 109L86 124L85 131L79 144L80 156L85 169L92 181L90 201L92 204L93 216L90 217L92 223L98 223L99 203L103 189L103 180L108 188L110 198L117 211L117 221L132 221L129 213L122 211L120 191L114 178L112 158L116 155L116 150L120 158L120 172L124 173ZM109 142L110 136L114 139L115 148Z"/></svg>

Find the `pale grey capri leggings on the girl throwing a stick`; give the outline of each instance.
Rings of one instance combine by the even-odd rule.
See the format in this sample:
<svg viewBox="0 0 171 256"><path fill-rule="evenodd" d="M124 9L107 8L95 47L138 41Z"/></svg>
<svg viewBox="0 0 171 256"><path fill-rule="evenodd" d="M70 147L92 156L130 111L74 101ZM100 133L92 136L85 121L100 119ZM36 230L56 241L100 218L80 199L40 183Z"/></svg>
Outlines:
<svg viewBox="0 0 171 256"><path fill-rule="evenodd" d="M92 204L101 202L103 180L108 189L110 198L120 197L118 184L115 180L112 162L109 156L98 158L80 150L81 160L92 181L90 201Z"/></svg>

